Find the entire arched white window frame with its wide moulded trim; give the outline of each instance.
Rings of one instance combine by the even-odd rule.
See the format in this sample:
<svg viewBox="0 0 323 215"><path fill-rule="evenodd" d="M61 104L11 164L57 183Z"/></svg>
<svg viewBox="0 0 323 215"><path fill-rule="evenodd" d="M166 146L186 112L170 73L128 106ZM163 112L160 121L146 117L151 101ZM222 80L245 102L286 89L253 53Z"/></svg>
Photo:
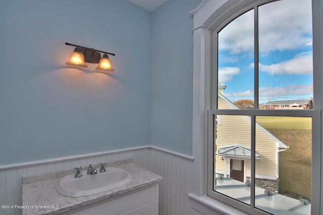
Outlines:
<svg viewBox="0 0 323 215"><path fill-rule="evenodd" d="M210 187L210 176L207 174L212 164L207 160L207 155L212 153L213 150L208 150L207 142L213 139L210 138L209 134L213 133L212 122L208 122L210 116L214 114L214 106L217 103L211 101L212 92L217 93L217 85L212 85L212 82L217 83L215 77L212 77L212 58L217 58L212 56L212 31L218 27L219 23L229 23L234 18L240 16L244 12L250 9L250 5L261 5L268 2L267 0L203 0L197 9L191 12L194 15L194 40L193 40L193 156L195 157L193 163L193 186L189 196L208 205L215 210L221 212L232 211L232 207L239 209L240 211L245 211L247 213L254 213L256 210L249 206L246 207L245 204L239 204L238 201L224 198L223 195L211 196L209 194L208 187ZM320 72L323 71L323 44L321 37L323 35L323 18L319 14L323 13L323 3L320 0L312 0L312 14L313 14L313 70L314 70L314 98L315 106L312 112L309 112L308 116L313 117L319 115L319 122L315 124L321 124L320 110L323 106L323 87L320 83L323 82L323 76ZM214 62L214 61L213 61ZM214 68L214 67L213 67ZM255 77L256 78L256 77ZM213 87L213 89L212 89ZM214 94L214 93L213 93ZM258 103L258 102L255 102ZM281 110L283 111L283 110ZM263 112L262 110L246 110L246 112L232 112L232 110L219 110L217 114L230 114L230 115L248 115L248 116L280 116L280 110L270 110ZM265 114L264 114L265 113ZM312 113L312 114L310 114ZM291 112L291 116L298 116L297 110ZM285 113L282 114L285 116ZM304 116L304 115L302 115ZM313 118L313 119L314 119ZM314 121L315 121L314 119ZM319 151L319 154L323 154L321 147L321 139L323 139L322 132L320 128L313 128L313 139L318 139L318 144L313 144L313 151ZM213 156L213 153L212 155ZM210 156L208 156L210 157ZM212 164L213 166L213 164ZM312 176L312 188L323 187L322 172L323 165L320 157L314 155L312 157L312 169L315 170L314 176ZM314 190L314 189L312 189ZM311 213L320 214L323 211L323 204L320 205L320 198L323 195L323 189L315 189L314 196L312 196L311 201ZM211 203L212 198L222 201L226 204L220 204L214 200ZM313 195L313 194L312 194ZM199 197L200 196L200 197ZM313 198L314 197L314 198ZM222 206L219 206L222 205ZM229 206L224 206L229 205ZM259 214L266 214L262 211L257 211Z"/></svg>

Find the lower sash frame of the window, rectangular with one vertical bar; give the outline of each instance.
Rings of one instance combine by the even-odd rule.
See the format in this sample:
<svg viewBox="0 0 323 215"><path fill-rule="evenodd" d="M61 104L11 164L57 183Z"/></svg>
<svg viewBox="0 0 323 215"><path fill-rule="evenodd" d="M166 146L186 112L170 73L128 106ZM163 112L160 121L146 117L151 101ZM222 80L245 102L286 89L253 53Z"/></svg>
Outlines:
<svg viewBox="0 0 323 215"><path fill-rule="evenodd" d="M237 209L247 212L248 214L270 214L263 212L253 205L255 203L255 195L251 195L250 197L250 206L237 201L233 198L227 197L221 193L213 191L213 171L214 171L214 136L213 136L213 116L214 115L240 115L240 116L251 116L251 151L255 151L255 117L256 116L289 116L289 117L311 117L312 118L312 170L316 168L317 163L320 163L320 135L315 135L320 133L320 111L319 110L209 110L208 111L208 162L207 162L207 195L220 200L226 204L232 205ZM315 144L316 143L316 144ZM251 173L255 172L255 154L251 153ZM317 171L312 171L312 192L311 192L311 207L312 211L311 214L320 214L314 208L319 208L320 202L316 201L320 197L319 189L315 189L315 187L320 186L320 181L315 180L315 178L319 178L320 173ZM314 180L313 180L314 179ZM251 174L251 193L254 193L254 181L255 181L255 174Z"/></svg>

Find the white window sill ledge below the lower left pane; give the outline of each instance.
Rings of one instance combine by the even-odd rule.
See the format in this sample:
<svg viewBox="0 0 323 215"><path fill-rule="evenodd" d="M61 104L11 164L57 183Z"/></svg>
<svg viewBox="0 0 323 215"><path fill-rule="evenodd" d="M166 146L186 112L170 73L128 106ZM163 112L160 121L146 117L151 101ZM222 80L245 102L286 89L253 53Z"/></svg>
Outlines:
<svg viewBox="0 0 323 215"><path fill-rule="evenodd" d="M217 200L210 198L206 195L197 196L193 193L189 193L188 196L191 199L193 199L193 200L195 200L195 201L197 201L197 202L199 202L199 203L201 203L213 210L216 210L222 214L247 215L247 213L237 210L236 208L233 208L225 203L217 201Z"/></svg>

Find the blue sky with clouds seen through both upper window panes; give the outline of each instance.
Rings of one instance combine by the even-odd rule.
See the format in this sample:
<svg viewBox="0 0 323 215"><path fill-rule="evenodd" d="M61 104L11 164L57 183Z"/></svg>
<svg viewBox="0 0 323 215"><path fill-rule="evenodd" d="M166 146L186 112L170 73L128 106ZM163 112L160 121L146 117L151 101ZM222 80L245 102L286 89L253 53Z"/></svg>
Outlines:
<svg viewBox="0 0 323 215"><path fill-rule="evenodd" d="M259 103L313 97L311 1L282 0L258 14ZM231 101L253 100L253 34L253 10L219 33L219 81Z"/></svg>

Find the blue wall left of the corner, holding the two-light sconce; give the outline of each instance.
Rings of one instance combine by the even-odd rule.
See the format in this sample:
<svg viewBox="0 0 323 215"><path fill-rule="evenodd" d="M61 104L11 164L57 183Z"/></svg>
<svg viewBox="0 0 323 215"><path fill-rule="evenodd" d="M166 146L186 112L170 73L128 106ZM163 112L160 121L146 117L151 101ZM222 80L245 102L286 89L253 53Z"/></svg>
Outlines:
<svg viewBox="0 0 323 215"><path fill-rule="evenodd" d="M0 3L0 165L150 142L151 13L126 0ZM70 42L115 73L68 68Z"/></svg>

